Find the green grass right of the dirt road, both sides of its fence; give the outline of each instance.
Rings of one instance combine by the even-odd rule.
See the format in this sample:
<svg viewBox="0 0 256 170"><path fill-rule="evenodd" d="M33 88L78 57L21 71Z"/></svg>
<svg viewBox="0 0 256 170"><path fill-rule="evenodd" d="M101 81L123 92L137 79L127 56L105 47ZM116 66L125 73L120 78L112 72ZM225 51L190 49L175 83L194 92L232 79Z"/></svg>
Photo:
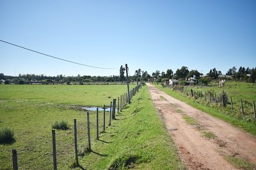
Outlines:
<svg viewBox="0 0 256 170"><path fill-rule="evenodd" d="M194 89L195 91L215 91L220 93L222 90L217 86L217 83L212 84L213 86L208 86L204 88L187 86L187 89ZM180 91L173 91L171 88L163 88L160 84L155 85L157 88L166 92L168 95L186 102L187 104L199 109L201 111L207 112L216 118L227 121L228 123L234 125L235 127L241 128L246 132L256 136L256 121L253 118L253 107L252 101L256 100L256 86L252 83L245 82L226 82L223 88L227 91L228 97L232 96L234 111L231 111L231 105L228 103L227 107L222 107L221 104L210 103L207 98L187 97L186 95L180 93ZM243 97L244 100L244 115L241 115L241 105L239 98ZM247 101L247 102L245 102Z"/></svg>

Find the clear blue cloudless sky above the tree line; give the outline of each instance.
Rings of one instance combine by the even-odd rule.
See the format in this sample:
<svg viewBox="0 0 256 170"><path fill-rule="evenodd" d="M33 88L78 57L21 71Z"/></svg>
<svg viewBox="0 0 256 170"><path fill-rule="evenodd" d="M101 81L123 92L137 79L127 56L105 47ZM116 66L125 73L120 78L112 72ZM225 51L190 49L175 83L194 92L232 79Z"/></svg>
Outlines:
<svg viewBox="0 0 256 170"><path fill-rule="evenodd" d="M119 75L256 67L256 1L0 1L0 73Z"/></svg>

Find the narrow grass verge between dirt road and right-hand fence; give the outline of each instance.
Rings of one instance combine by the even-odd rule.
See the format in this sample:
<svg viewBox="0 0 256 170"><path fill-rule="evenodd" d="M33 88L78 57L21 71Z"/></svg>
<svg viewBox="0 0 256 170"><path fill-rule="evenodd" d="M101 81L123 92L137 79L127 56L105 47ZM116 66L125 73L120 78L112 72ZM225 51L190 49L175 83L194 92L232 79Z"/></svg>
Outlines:
<svg viewBox="0 0 256 170"><path fill-rule="evenodd" d="M179 93L179 91L172 91L172 89L163 88L161 85L155 85L156 88L160 89L161 91L164 91L168 95L177 98L178 100L185 102L188 105L191 105L192 107L195 107L196 109L199 109L200 111L207 112L208 114L211 114L212 116L219 118L220 120L227 121L231 125L237 128L241 128L242 130L252 134L256 137L256 125L253 122L247 122L245 120L237 120L235 117L228 116L227 114L223 114L218 109L214 109L212 107L208 107L206 105L198 104L195 102L193 98L188 98Z"/></svg>

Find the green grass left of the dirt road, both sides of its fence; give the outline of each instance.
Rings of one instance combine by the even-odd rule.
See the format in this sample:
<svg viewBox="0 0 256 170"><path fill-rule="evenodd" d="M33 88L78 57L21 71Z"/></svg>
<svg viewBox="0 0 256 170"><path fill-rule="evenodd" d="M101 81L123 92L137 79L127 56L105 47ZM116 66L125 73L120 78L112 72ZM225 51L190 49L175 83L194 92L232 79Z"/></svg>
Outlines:
<svg viewBox="0 0 256 170"><path fill-rule="evenodd" d="M12 169L12 149L17 150L19 169L52 169L51 125L60 120L68 121L70 129L56 130L58 169L184 169L147 87L100 133L100 141L96 140L95 112L90 112L92 152L86 152L86 112L70 106L109 105L125 92L125 85L1 85L0 128L13 128L15 142L0 144L0 169ZM103 112L99 114L102 132ZM74 118L81 167L72 166ZM106 112L106 125L108 118Z"/></svg>

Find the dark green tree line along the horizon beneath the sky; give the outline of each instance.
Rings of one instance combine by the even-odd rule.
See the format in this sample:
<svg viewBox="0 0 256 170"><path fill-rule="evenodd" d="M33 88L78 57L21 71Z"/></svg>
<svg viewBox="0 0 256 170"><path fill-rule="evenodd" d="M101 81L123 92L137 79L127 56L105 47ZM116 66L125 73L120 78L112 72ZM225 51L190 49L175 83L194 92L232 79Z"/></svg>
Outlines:
<svg viewBox="0 0 256 170"><path fill-rule="evenodd" d="M202 73L197 70L188 70L187 66L182 66L178 68L176 72L173 72L172 69L167 69L166 72L160 72L156 70L150 75L147 71L143 71L140 68L135 71L134 75L129 75L129 81L156 81L163 82L168 79L179 79L186 80L190 77L195 79L202 79L202 81L207 84L207 82L219 79L219 75L222 75L221 71L216 70L216 68L212 68L207 73L207 77L202 77ZM255 68L244 68L242 66L237 70L236 66L229 68L225 75L232 76L232 79L237 81L246 81L246 82L255 82L256 79L256 67ZM36 74L19 74L19 76L9 76L0 73L0 80L4 80L7 82L12 82L15 84L24 84L26 82L60 82L70 84L71 82L76 82L77 84L86 84L91 82L125 82L125 67L120 66L119 75L111 75L111 76L90 76L90 75L80 75L77 76L65 76L65 75L56 75L56 76L46 76L44 74L36 75ZM8 83L6 83L8 84ZM74 84L74 83L73 83Z"/></svg>

